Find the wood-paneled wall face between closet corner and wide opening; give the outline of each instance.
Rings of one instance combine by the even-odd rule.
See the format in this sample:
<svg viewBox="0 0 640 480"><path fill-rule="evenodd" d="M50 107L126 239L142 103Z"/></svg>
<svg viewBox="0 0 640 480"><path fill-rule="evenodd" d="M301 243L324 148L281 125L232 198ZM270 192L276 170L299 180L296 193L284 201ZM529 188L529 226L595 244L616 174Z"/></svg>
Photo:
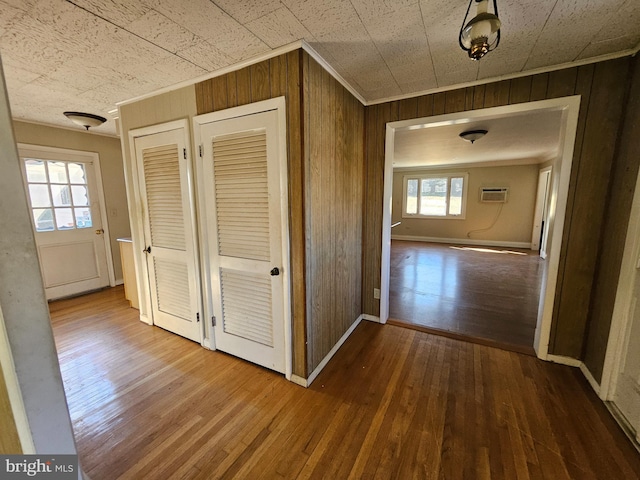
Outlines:
<svg viewBox="0 0 640 480"><path fill-rule="evenodd" d="M362 313L364 107L305 52L308 371Z"/></svg>

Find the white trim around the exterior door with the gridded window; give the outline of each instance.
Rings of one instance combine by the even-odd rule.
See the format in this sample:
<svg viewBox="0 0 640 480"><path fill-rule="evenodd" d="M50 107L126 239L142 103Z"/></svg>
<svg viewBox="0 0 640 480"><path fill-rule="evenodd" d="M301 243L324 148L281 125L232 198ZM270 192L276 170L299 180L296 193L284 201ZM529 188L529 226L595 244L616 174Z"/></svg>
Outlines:
<svg viewBox="0 0 640 480"><path fill-rule="evenodd" d="M102 169L100 167L100 155L97 152L87 152L85 150L73 150L70 148L59 148L59 147L49 147L46 145L33 145L29 143L18 143L18 158L20 158L20 171L24 177L24 166L22 165L22 157L24 150L30 150L34 152L42 152L42 153L53 153L59 155L75 155L80 157L89 157L91 158L91 163L93 164L93 170L96 176L96 189L98 194L98 202L100 202L100 220L102 222L102 229L104 233L102 234L102 241L104 242L104 250L105 255L107 257L107 274L109 276L109 286L116 286L116 274L113 266L113 252L111 250L111 234L109 232L109 221L107 219L107 203L104 199L104 187L102 184ZM64 161L73 161L72 159L67 159ZM24 179L26 181L26 179ZM25 195L27 192L25 191ZM108 240L108 241L107 241Z"/></svg>

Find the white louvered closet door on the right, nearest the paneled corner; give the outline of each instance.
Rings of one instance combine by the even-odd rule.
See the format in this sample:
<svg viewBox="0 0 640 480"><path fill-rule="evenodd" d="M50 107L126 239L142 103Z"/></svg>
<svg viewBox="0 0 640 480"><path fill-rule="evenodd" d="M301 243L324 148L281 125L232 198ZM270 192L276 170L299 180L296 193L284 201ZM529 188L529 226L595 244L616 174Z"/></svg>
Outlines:
<svg viewBox="0 0 640 480"><path fill-rule="evenodd" d="M200 137L216 348L284 372L277 118L212 122Z"/></svg>

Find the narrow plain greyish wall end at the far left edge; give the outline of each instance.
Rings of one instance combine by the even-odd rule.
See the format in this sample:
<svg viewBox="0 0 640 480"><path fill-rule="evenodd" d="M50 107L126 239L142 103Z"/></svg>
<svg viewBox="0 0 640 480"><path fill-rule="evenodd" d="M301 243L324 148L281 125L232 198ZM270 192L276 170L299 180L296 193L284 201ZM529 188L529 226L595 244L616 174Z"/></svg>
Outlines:
<svg viewBox="0 0 640 480"><path fill-rule="evenodd" d="M0 305L36 453L75 454L0 68Z"/></svg>

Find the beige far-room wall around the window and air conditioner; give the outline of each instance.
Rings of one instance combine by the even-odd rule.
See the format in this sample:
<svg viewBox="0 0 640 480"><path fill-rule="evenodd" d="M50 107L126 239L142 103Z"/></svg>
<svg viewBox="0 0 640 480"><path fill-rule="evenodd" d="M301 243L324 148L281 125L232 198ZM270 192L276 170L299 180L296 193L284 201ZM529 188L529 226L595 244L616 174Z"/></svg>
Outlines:
<svg viewBox="0 0 640 480"><path fill-rule="evenodd" d="M493 244L527 246L531 243L539 165L507 167L448 168L446 170L394 171L392 223L393 238L476 240ZM469 174L465 219L402 218L403 177L407 174ZM509 187L507 203L480 202L481 187ZM499 216L497 214L499 213ZM484 231L494 222L495 225Z"/></svg>

